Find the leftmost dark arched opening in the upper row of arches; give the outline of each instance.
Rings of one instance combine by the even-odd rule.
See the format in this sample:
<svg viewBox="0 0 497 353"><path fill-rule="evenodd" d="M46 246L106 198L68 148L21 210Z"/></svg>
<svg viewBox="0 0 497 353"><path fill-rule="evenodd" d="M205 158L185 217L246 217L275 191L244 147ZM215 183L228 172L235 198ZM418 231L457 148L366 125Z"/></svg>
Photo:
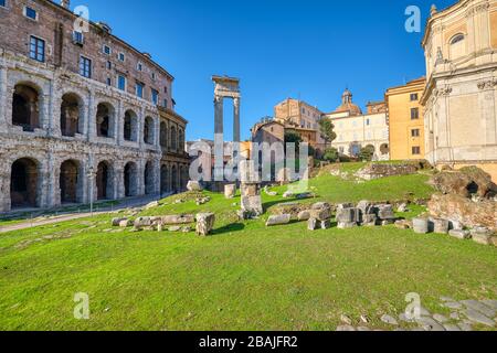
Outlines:
<svg viewBox="0 0 497 353"><path fill-rule="evenodd" d="M24 131L34 131L40 127L40 97L36 89L19 84L12 97L12 125Z"/></svg>

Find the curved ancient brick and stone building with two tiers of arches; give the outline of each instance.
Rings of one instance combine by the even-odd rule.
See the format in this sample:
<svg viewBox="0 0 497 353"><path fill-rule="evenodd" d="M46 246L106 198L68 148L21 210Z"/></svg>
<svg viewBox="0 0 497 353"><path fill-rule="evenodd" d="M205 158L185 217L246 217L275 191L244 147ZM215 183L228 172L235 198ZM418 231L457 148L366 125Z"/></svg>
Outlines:
<svg viewBox="0 0 497 353"><path fill-rule="evenodd" d="M93 200L183 190L173 77L108 25L82 26L68 1L4 3L0 212L87 203L92 189Z"/></svg>

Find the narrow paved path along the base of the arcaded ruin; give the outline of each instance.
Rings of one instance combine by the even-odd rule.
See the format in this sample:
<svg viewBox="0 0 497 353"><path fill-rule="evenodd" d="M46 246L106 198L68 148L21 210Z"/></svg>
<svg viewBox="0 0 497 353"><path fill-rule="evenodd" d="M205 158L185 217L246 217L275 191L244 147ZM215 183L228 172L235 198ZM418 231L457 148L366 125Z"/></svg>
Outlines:
<svg viewBox="0 0 497 353"><path fill-rule="evenodd" d="M140 197L140 199L131 199L125 200L117 205L107 206L105 208L99 208L98 212L94 212L93 215L106 214L113 211L119 211L129 207L139 207L149 204L150 202L157 201L157 197ZM65 213L56 216L49 216L44 220L31 221L27 220L25 222L15 223L12 225L0 226L0 233L13 232L13 231L22 231L31 227L38 227L47 224L55 224L61 222L66 222L71 220L86 218L91 217L92 213Z"/></svg>

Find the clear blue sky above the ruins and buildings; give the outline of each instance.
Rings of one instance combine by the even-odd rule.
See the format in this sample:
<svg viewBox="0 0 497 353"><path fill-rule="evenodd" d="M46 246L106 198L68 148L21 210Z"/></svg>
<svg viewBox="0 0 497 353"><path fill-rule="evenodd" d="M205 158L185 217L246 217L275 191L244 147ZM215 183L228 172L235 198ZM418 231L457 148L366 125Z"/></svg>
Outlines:
<svg viewBox="0 0 497 353"><path fill-rule="evenodd" d="M57 1L57 0L56 0ZM456 0L438 0L442 9ZM175 77L187 139L213 137L212 74L241 78L242 138L275 104L295 97L331 111L349 87L355 103L383 98L390 86L424 75L426 0L85 0L93 21L149 52ZM422 32L408 33L408 6ZM225 105L231 131L232 105ZM231 138L231 132L226 138Z"/></svg>

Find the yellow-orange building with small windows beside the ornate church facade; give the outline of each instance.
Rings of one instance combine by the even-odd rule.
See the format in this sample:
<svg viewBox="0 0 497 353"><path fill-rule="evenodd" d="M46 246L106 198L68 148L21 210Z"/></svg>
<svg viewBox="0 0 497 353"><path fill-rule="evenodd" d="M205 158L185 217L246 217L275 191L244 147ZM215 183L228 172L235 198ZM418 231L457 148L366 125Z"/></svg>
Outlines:
<svg viewBox="0 0 497 353"><path fill-rule="evenodd" d="M390 158L392 160L424 159L424 116L420 99L424 77L387 90L390 125Z"/></svg>

